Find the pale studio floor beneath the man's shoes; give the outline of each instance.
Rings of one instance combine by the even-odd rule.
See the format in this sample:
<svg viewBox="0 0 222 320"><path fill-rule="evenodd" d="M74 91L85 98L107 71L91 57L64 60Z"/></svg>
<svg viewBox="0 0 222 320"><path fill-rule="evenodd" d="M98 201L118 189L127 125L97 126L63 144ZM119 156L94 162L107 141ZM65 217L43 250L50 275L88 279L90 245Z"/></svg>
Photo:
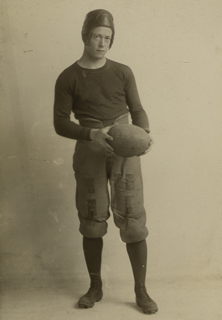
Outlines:
<svg viewBox="0 0 222 320"><path fill-rule="evenodd" d="M222 279L168 280L152 282L150 296L159 311L146 315L137 307L131 283L113 280L104 285L104 297L91 309L76 303L87 291L86 282L60 286L4 286L1 290L1 320L218 320L222 319Z"/></svg>

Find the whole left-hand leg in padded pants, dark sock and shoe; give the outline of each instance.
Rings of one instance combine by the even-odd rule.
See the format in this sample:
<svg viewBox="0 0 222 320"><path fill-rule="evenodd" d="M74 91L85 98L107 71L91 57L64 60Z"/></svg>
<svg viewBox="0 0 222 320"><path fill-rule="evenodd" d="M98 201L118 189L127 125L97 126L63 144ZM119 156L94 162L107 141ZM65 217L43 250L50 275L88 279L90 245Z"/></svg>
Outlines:
<svg viewBox="0 0 222 320"><path fill-rule="evenodd" d="M95 121L94 121L95 122ZM90 125L89 125L90 126ZM73 158L76 178L76 207L83 235L83 251L91 284L79 299L80 308L93 307L102 299L102 237L107 233L109 193L105 149L93 141L77 141Z"/></svg>

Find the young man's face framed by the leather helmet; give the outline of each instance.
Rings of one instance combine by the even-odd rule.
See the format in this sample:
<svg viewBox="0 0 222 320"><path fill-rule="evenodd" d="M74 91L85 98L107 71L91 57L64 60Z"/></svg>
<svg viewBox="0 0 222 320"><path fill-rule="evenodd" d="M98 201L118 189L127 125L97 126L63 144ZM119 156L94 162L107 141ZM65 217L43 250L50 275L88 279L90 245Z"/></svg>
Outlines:
<svg viewBox="0 0 222 320"><path fill-rule="evenodd" d="M97 27L93 30L85 48L90 58L102 59L109 50L112 30L106 27Z"/></svg>

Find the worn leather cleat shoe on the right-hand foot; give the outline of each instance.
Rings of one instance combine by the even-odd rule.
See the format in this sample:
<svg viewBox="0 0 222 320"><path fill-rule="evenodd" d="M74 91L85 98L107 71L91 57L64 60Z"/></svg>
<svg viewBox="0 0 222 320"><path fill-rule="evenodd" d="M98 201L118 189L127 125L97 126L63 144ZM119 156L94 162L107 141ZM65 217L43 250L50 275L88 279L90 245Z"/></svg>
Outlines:
<svg viewBox="0 0 222 320"><path fill-rule="evenodd" d="M136 286L136 303L142 308L146 314L153 314L158 311L158 307L155 301L153 301L146 291L145 286Z"/></svg>

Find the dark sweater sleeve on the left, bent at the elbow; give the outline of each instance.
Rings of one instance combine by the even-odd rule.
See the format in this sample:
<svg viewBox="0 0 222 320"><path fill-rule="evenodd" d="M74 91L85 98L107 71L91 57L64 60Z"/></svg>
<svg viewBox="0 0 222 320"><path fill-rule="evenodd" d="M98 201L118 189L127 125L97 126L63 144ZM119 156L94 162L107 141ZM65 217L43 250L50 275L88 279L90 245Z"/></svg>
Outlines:
<svg viewBox="0 0 222 320"><path fill-rule="evenodd" d="M58 135L76 140L90 140L90 128L71 121L73 92L70 82L60 75L55 85L54 128Z"/></svg>

